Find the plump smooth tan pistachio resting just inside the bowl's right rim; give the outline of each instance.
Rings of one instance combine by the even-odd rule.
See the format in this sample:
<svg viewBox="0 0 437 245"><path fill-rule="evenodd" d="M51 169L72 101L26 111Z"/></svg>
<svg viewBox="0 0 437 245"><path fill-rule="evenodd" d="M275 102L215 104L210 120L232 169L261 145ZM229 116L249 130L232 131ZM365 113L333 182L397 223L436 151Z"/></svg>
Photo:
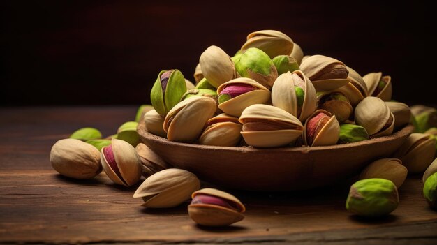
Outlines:
<svg viewBox="0 0 437 245"><path fill-rule="evenodd" d="M355 123L366 128L369 135L381 131L390 116L389 107L377 97L366 97L355 107Z"/></svg>

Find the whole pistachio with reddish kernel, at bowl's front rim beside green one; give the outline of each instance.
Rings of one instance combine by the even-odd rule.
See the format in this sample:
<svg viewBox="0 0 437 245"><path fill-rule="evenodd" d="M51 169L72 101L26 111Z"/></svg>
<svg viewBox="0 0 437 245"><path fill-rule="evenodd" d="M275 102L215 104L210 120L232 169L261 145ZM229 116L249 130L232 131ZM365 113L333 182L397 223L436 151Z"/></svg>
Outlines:
<svg viewBox="0 0 437 245"><path fill-rule="evenodd" d="M332 145L339 141L340 125L335 115L326 110L316 110L305 121L304 144L310 147Z"/></svg>

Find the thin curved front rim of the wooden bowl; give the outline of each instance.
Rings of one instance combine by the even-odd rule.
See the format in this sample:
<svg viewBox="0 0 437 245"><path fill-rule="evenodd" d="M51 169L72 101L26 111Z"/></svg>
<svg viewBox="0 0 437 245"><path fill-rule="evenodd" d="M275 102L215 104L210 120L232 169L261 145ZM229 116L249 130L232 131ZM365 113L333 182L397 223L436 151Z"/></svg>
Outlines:
<svg viewBox="0 0 437 245"><path fill-rule="evenodd" d="M414 126L413 124L406 124L403 128L398 131L392 133L391 135L381 136L378 138L371 138L370 140L363 140L360 142L346 143L346 144L334 144L329 146L318 146L318 147L310 147L310 146L302 146L302 147L272 147L272 148L256 148L251 146L243 146L243 147L221 147L221 146L212 146L212 145L204 145L204 144L192 144L192 143L182 143L182 142L174 142L167 140L158 135L154 135L153 133L149 133L145 129L145 123L142 122L138 124L137 132L140 135L140 138L146 138L152 142L158 142L159 144L171 145L174 147L184 147L189 149L205 149L212 151L234 151L234 152L276 152L276 151L292 151L292 152L302 152L308 153L309 151L327 151L333 149L348 149L355 147L363 147L369 144L389 142L390 140L395 140L397 138L401 138L405 135L408 137L410 133L413 133Z"/></svg>

